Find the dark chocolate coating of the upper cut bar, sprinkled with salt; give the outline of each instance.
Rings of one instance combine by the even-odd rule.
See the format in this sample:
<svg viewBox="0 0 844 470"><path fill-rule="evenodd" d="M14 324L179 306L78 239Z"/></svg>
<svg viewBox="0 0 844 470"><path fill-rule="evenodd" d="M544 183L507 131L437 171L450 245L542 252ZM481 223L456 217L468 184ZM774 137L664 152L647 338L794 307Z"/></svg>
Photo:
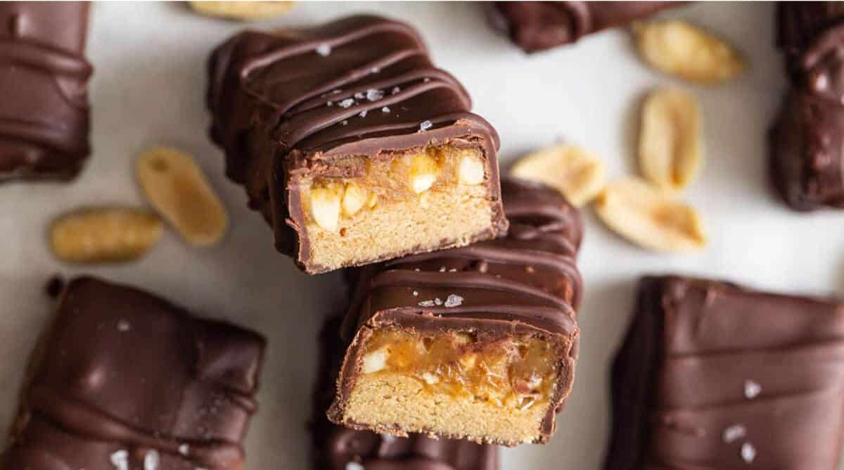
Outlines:
<svg viewBox="0 0 844 470"><path fill-rule="evenodd" d="M273 35L246 31L219 46L208 67L211 137L225 150L226 173L246 187L250 207L273 226L277 249L307 272L324 268L309 262L294 183L309 175L362 175L363 159L333 165L349 155L390 158L429 144L476 147L495 182L495 226L480 238L506 229L497 184L498 134L468 112L466 90L433 66L408 24L352 16ZM431 127L422 132L426 121Z"/></svg>

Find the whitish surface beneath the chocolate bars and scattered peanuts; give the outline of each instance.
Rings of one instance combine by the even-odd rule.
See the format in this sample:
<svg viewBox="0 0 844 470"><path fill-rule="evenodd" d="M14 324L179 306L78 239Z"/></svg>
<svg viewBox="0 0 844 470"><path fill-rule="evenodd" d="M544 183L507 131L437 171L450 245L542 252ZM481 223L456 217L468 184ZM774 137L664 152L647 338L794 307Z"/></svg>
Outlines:
<svg viewBox="0 0 844 470"><path fill-rule="evenodd" d="M638 105L652 87L677 84L701 101L707 162L687 199L706 217L710 246L697 255L641 251L587 210L580 256L586 296L580 311L576 384L547 446L503 451L505 469L597 469L609 413L609 359L630 316L643 273L691 273L760 288L826 293L844 284L844 213L788 211L768 190L765 132L782 96L773 48L773 6L695 4L663 14L692 19L749 57L742 78L704 89L674 82L638 61L624 30L576 46L522 54L468 3L302 3L277 28L380 12L421 30L435 62L463 81L475 111L501 135L502 166L566 138L598 153L609 176L633 174ZM223 156L207 138L208 53L243 24L208 19L176 3L98 3L89 57L94 154L69 185L0 186L0 425L11 422L26 356L51 313L43 285L52 273L94 273L135 284L207 316L224 316L269 339L261 411L248 437L248 468L307 468L311 386L321 320L345 298L340 275L310 278L273 251L272 235L246 208L241 187L225 179ZM57 214L89 204L144 207L132 162L145 147L170 144L194 154L230 210L223 243L199 250L172 231L149 257L78 269L56 262L46 230Z"/></svg>

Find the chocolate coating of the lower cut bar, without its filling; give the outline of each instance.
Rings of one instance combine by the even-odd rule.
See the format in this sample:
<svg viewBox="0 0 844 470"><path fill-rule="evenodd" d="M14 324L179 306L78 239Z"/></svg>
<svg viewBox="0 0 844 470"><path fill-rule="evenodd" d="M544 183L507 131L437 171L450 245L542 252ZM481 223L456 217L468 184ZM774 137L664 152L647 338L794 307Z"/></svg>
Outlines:
<svg viewBox="0 0 844 470"><path fill-rule="evenodd" d="M582 290L575 257L583 222L576 208L548 186L505 179L501 190L511 223L506 236L362 269L344 337L351 339L363 325L398 324L420 331L473 330L503 336L541 332L564 338L571 349L559 358L564 380L542 424L547 439L554 432L555 411L574 379L580 334L575 308ZM459 296L460 305L446 305L449 295ZM440 302L419 305L435 300ZM359 340L354 338L344 359L338 396L329 410L334 422L342 419L354 383Z"/></svg>

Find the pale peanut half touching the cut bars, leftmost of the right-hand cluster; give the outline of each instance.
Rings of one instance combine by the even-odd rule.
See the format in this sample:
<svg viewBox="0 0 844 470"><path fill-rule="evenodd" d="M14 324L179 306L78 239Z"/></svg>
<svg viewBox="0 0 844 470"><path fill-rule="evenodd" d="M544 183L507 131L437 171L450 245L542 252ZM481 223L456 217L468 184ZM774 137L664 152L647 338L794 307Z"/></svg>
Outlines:
<svg viewBox="0 0 844 470"><path fill-rule="evenodd" d="M576 207L597 196L604 185L603 161L571 145L557 145L528 154L519 159L510 172L513 176L554 187Z"/></svg>

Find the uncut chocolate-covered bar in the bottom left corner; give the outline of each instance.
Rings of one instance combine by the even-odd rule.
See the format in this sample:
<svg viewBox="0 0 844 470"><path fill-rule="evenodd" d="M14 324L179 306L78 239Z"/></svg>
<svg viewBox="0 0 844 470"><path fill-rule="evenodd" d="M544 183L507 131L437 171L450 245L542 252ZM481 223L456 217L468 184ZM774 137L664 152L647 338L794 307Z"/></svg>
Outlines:
<svg viewBox="0 0 844 470"><path fill-rule="evenodd" d="M6 470L240 470L264 339L76 278L32 354Z"/></svg>

